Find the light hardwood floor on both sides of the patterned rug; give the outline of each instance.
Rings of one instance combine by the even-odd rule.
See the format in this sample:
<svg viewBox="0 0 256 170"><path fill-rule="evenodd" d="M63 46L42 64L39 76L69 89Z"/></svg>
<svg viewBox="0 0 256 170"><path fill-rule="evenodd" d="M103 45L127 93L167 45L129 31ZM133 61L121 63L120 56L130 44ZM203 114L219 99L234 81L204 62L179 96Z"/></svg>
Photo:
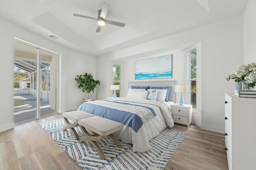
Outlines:
<svg viewBox="0 0 256 170"><path fill-rule="evenodd" d="M81 170L37 124L60 114L17 125L0 133L0 170ZM227 170L224 135L191 125L172 128L187 133L165 170Z"/></svg>

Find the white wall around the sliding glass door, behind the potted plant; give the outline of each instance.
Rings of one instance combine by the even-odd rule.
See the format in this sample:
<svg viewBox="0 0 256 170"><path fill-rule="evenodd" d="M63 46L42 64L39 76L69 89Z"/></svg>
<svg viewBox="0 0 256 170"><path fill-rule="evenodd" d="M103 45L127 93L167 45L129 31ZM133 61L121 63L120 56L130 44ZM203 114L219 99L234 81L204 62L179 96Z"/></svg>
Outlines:
<svg viewBox="0 0 256 170"><path fill-rule="evenodd" d="M0 84L0 132L14 127L13 123L13 75L14 75L14 37L22 39L34 45L46 48L60 54L57 74L58 79L58 113L77 109L82 103L84 93L75 86L74 78L83 72L90 72L97 78L97 59L91 55L78 53L57 45L30 31L14 25L0 18L0 72L1 79L6 83ZM46 35L48 36L48 35ZM58 41L58 40L56 40ZM92 95L96 99L96 93Z"/></svg>

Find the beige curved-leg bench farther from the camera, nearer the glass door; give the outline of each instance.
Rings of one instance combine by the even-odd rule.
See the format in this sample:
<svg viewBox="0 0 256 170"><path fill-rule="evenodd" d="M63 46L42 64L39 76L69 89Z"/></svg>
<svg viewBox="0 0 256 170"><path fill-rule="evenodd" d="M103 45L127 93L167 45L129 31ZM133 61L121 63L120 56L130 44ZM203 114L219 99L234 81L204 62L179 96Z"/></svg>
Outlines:
<svg viewBox="0 0 256 170"><path fill-rule="evenodd" d="M68 111L65 113L62 113L62 117L64 118L65 123L67 124L66 127L63 128L63 131L66 129L70 129L70 131L73 133L75 139L79 141L78 134L74 127L78 126L78 120L88 118L88 117L93 117L95 115L91 113L87 113L85 111L81 110L75 110L75 111ZM73 121L74 123L71 123L69 120Z"/></svg>

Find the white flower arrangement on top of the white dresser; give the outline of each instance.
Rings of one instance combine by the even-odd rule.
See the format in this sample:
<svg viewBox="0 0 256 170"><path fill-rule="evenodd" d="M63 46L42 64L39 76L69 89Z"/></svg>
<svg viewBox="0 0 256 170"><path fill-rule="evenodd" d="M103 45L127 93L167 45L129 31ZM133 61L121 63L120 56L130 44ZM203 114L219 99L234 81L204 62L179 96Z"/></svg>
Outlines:
<svg viewBox="0 0 256 170"><path fill-rule="evenodd" d="M235 79L235 82L243 82L244 89L256 88L256 63L237 66L233 74L226 77L226 80L230 79Z"/></svg>

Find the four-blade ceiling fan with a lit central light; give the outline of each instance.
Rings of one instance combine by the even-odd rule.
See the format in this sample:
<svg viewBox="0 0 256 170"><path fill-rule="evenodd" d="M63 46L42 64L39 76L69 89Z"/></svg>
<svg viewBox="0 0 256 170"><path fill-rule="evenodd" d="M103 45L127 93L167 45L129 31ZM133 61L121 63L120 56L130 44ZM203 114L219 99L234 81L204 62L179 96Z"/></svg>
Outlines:
<svg viewBox="0 0 256 170"><path fill-rule="evenodd" d="M74 16L82 17L82 18L88 18L88 19L92 19L92 20L98 20L97 29L96 29L97 33L100 32L101 27L104 26L105 23L109 23L109 24L116 25L116 26L119 26L119 27L124 27L125 23L105 20L109 7L110 7L110 5L104 2L102 10L98 10L98 18L83 16L83 15L79 15L79 14L74 14Z"/></svg>

